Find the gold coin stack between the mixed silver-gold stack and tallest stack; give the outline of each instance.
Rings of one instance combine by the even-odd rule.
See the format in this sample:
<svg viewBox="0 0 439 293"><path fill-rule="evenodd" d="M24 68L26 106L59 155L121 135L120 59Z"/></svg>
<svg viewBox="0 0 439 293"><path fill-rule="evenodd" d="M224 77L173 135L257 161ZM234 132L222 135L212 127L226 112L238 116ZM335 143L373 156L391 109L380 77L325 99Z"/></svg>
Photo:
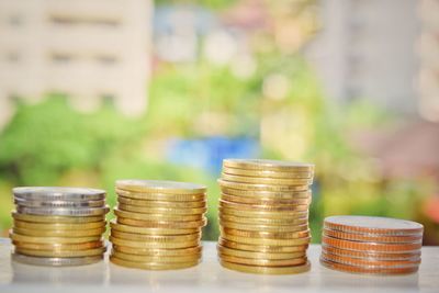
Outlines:
<svg viewBox="0 0 439 293"><path fill-rule="evenodd" d="M146 270L173 270L201 260L206 188L200 184L117 180L110 260Z"/></svg>

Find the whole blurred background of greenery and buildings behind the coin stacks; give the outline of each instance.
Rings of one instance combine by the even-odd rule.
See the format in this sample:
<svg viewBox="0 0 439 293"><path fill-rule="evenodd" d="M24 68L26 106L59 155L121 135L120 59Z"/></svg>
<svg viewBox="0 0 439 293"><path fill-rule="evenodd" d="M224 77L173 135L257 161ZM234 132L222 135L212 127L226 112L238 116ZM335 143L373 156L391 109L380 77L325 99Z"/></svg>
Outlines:
<svg viewBox="0 0 439 293"><path fill-rule="evenodd" d="M439 245L439 0L0 0L0 233L11 188L316 165L311 225L407 218Z"/></svg>

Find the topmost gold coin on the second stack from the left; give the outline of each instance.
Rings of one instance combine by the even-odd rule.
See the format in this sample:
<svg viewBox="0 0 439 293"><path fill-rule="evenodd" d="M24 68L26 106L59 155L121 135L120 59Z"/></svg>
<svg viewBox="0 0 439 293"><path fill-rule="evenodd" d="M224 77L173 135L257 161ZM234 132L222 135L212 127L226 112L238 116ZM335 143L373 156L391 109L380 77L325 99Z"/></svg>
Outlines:
<svg viewBox="0 0 439 293"><path fill-rule="evenodd" d="M134 192L158 192L171 194L199 194L207 191L202 184L166 180L116 180L116 188Z"/></svg>

